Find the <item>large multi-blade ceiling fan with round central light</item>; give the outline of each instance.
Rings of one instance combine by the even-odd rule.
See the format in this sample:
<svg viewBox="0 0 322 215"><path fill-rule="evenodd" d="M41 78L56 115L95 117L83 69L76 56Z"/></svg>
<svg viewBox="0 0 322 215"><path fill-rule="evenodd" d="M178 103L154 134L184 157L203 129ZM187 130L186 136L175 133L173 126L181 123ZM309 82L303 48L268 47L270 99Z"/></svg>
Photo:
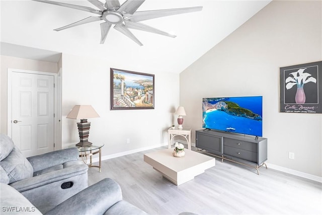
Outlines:
<svg viewBox="0 0 322 215"><path fill-rule="evenodd" d="M199 6L199 7L191 7L191 8L177 8L177 9L165 9L165 10L154 10L154 11L136 11L144 3L145 0L127 0L122 5L120 5L120 2L118 0L106 0L105 3L102 3L99 0L88 0L99 10L96 10L90 7L85 7L85 6L71 5L71 4L46 1L46 0L33 0L33 1L52 4L52 5L58 5L62 7L86 11L86 12L99 15L99 16L90 16L83 20L77 21L75 23L72 23L54 30L61 31L67 28L83 25L86 23L105 21L101 23L101 44L105 42L107 34L110 28L112 27L112 25L114 25L115 30L129 37L140 46L143 44L132 34L132 32L129 29L147 31L147 32L175 38L176 37L175 35L147 26L145 24L140 23L140 21L159 18L159 17L172 16L177 14L197 12L202 10L202 6Z"/></svg>

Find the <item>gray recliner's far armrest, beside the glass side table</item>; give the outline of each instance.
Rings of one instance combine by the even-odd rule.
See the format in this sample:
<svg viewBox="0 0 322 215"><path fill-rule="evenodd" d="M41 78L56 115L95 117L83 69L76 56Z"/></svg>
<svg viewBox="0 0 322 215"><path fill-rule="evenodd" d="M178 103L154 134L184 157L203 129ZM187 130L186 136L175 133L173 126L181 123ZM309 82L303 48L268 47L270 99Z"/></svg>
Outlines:
<svg viewBox="0 0 322 215"><path fill-rule="evenodd" d="M49 167L53 167L59 164L66 163L68 161L77 161L79 158L77 148L69 148L58 150L54 152L45 153L42 155L36 155L27 158L32 167L34 168L34 172L47 169Z"/></svg>

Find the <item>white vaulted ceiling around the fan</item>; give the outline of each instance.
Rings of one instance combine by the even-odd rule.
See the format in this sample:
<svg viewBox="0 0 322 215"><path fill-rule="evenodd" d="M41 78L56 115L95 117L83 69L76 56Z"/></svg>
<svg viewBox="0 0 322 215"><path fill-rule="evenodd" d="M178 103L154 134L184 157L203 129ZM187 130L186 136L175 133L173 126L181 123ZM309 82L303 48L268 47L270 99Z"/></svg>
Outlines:
<svg viewBox="0 0 322 215"><path fill-rule="evenodd" d="M94 8L88 1L60 2ZM120 0L121 4L123 2ZM114 29L110 30L105 43L100 44L101 22L53 31L93 16L89 12L29 0L2 0L1 54L55 61L57 53L62 52L101 58L111 66L144 64L144 68L153 71L180 73L270 2L146 0L137 11L195 6L203 9L142 21L177 37L131 30L143 43L139 46Z"/></svg>

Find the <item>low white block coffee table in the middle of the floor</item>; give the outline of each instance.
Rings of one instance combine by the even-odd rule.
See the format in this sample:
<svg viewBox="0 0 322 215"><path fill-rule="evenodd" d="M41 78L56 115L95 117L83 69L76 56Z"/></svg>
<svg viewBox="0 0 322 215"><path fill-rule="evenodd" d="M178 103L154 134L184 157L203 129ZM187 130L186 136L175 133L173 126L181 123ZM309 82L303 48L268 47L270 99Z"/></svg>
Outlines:
<svg viewBox="0 0 322 215"><path fill-rule="evenodd" d="M215 166L215 159L212 157L185 150L186 155L178 158L172 155L173 150L174 148L144 154L144 162L177 186Z"/></svg>

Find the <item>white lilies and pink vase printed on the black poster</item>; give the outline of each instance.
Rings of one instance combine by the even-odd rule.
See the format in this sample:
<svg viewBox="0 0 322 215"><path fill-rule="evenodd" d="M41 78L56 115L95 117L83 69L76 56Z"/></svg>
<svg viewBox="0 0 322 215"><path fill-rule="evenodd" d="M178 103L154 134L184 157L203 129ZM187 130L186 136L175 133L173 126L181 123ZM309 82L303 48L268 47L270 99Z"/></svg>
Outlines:
<svg viewBox="0 0 322 215"><path fill-rule="evenodd" d="M316 79L313 77L310 77L311 74L303 73L305 69L306 68L300 68L297 71L294 71L294 73L289 74L289 75L292 75L293 77L290 76L290 77L287 77L287 79L285 79L287 90L291 89L294 85L297 86L297 91L295 95L295 102L297 104L305 103L305 93L303 89L304 84L308 82L313 82L316 84Z"/></svg>

